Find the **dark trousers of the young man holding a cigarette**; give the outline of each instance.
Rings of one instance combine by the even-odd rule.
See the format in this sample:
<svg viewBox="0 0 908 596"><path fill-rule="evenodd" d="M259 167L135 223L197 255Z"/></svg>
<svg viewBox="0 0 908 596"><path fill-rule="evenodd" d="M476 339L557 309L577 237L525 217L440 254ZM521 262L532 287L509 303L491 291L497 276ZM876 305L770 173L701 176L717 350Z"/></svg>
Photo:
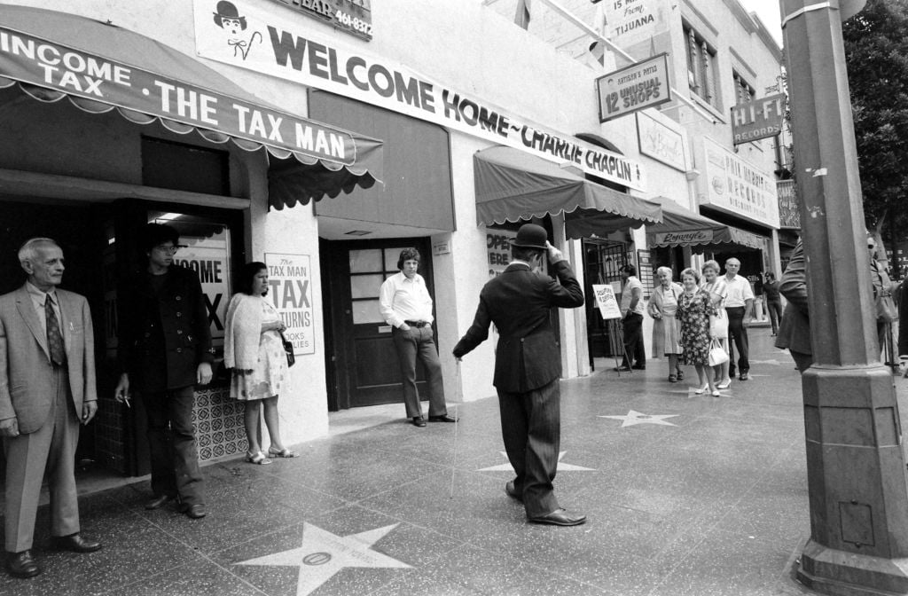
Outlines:
<svg viewBox="0 0 908 596"><path fill-rule="evenodd" d="M143 394L148 414L152 492L179 496L187 505L203 503L202 472L192 427L192 385ZM168 428L169 427L169 428Z"/></svg>

